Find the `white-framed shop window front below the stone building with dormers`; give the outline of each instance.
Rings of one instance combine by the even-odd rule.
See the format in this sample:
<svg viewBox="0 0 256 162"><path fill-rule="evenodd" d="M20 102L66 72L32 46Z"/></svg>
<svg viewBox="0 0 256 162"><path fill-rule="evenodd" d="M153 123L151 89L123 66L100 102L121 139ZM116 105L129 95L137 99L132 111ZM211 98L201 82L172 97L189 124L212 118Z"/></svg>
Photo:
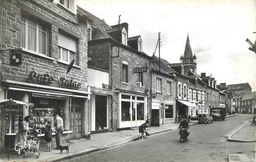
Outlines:
<svg viewBox="0 0 256 162"><path fill-rule="evenodd" d="M147 97L119 93L118 128L141 126L147 120Z"/></svg>

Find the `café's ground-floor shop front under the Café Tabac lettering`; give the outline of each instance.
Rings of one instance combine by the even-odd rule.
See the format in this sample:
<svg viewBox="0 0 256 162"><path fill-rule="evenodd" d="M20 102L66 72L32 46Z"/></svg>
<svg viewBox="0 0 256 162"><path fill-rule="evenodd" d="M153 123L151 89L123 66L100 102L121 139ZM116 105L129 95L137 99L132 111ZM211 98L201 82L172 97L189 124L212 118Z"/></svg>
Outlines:
<svg viewBox="0 0 256 162"><path fill-rule="evenodd" d="M11 141L15 140L19 119L28 115L31 116L30 128L41 129L41 133L37 134L39 138L44 136L44 128L48 122L54 128L54 113L58 113L64 121L63 140L79 139L88 135L83 129L88 119L86 110L89 109L90 92L11 80L4 80L2 84L6 99L33 105L14 107L12 111L5 111L4 116L1 116L2 119L6 118L3 128L5 128L5 135L12 135ZM55 132L52 136L55 136ZM7 147L6 140L4 141L5 147ZM13 147L13 144L10 145Z"/></svg>

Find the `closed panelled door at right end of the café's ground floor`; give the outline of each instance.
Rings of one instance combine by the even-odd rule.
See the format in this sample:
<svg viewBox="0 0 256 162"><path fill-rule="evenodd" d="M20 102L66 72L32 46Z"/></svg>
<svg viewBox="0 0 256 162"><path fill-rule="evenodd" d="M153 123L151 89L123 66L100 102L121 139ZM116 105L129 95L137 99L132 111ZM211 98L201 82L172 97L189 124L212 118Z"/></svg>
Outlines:
<svg viewBox="0 0 256 162"><path fill-rule="evenodd" d="M70 107L70 139L82 137L82 101L73 99Z"/></svg>

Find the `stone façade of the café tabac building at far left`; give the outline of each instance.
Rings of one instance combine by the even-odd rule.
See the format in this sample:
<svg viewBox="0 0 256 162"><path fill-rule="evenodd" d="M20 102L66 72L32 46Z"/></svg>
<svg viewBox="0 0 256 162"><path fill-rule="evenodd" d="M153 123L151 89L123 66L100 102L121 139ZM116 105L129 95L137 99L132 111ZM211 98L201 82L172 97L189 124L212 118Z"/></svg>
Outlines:
<svg viewBox="0 0 256 162"><path fill-rule="evenodd" d="M75 2L67 6L59 0L1 1L0 98L33 103L28 111L23 108L22 117L33 116L34 127L44 126L44 115L53 124L52 113L59 113L70 139L90 134L87 22L81 21L85 18ZM68 67L72 69L67 73ZM15 114L10 114L4 115L14 119ZM6 123L4 117L1 124ZM1 137L12 136L15 130L6 126Z"/></svg>

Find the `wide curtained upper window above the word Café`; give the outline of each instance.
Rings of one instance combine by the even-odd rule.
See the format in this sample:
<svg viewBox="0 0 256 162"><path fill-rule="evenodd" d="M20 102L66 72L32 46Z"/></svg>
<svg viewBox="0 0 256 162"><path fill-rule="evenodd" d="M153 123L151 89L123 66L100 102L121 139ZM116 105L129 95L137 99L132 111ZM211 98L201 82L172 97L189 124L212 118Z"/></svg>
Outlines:
<svg viewBox="0 0 256 162"><path fill-rule="evenodd" d="M46 26L20 17L20 46L38 52L39 54L48 55L48 30Z"/></svg>

